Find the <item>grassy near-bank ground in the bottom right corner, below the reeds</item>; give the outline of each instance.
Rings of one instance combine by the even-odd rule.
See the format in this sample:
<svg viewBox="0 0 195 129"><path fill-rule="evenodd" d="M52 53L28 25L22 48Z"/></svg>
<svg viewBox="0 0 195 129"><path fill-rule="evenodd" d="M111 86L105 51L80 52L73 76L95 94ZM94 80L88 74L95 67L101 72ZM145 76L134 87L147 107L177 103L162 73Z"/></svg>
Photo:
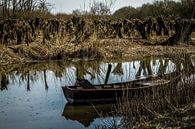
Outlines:
<svg viewBox="0 0 195 129"><path fill-rule="evenodd" d="M153 128L195 128L195 103L164 114L155 113L154 118L139 123L134 128L153 129Z"/></svg>

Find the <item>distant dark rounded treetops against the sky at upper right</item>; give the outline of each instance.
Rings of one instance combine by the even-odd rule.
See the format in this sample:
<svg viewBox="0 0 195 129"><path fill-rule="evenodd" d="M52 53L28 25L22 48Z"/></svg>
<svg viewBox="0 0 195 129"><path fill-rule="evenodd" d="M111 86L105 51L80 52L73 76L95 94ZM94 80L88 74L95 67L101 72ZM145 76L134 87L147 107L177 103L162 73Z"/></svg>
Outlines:
<svg viewBox="0 0 195 129"><path fill-rule="evenodd" d="M113 16L118 18L146 18L148 16L157 17L181 17L195 18L195 0L164 0L155 1L152 4L143 4L141 7L123 7L117 10Z"/></svg>

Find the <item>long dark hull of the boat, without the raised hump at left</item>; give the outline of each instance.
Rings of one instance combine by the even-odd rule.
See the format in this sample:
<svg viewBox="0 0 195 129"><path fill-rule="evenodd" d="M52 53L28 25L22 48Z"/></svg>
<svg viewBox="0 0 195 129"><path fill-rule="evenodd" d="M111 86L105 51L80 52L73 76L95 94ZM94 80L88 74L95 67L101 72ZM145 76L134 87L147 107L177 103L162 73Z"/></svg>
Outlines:
<svg viewBox="0 0 195 129"><path fill-rule="evenodd" d="M171 77L170 75L167 75ZM172 77L171 77L172 78ZM177 85L180 80L181 75L176 74L171 81L166 83L160 83L157 85L149 85L141 81L132 81L130 83L125 83L124 85L108 84L105 88L104 85L96 85L92 89L79 89L78 86L64 86L62 87L64 95L70 104L81 104L81 103L112 103L116 101L121 101L122 98L135 98L144 97L145 95L161 94L169 86ZM141 84L146 84L146 86ZM99 88L98 88L99 87Z"/></svg>

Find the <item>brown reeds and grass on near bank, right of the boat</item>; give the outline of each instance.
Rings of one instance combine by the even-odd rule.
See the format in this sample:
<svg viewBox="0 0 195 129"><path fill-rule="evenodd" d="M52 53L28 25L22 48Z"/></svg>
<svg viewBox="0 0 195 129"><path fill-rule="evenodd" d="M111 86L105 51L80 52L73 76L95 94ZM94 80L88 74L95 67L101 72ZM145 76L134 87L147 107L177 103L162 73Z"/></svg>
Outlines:
<svg viewBox="0 0 195 129"><path fill-rule="evenodd" d="M125 95L116 105L121 128L195 128L195 71L186 55L175 61L182 73L178 83L147 90L135 97ZM130 99L129 99L130 98Z"/></svg>

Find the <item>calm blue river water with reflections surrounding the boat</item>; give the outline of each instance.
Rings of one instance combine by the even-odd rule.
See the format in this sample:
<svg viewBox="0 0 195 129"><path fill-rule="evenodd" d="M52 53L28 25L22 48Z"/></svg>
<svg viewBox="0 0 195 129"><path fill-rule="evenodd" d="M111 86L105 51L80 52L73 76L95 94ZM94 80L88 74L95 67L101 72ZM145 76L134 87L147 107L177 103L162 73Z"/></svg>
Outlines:
<svg viewBox="0 0 195 129"><path fill-rule="evenodd" d="M111 126L114 121L119 123L121 118L111 113L112 104L72 106L67 104L61 89L64 85L74 85L77 77L92 84L104 83L108 63L112 64L108 83L186 67L185 63L178 65L169 58L128 62L63 61L1 67L0 129L94 129L105 124ZM195 66L195 56L189 58L187 66Z"/></svg>

